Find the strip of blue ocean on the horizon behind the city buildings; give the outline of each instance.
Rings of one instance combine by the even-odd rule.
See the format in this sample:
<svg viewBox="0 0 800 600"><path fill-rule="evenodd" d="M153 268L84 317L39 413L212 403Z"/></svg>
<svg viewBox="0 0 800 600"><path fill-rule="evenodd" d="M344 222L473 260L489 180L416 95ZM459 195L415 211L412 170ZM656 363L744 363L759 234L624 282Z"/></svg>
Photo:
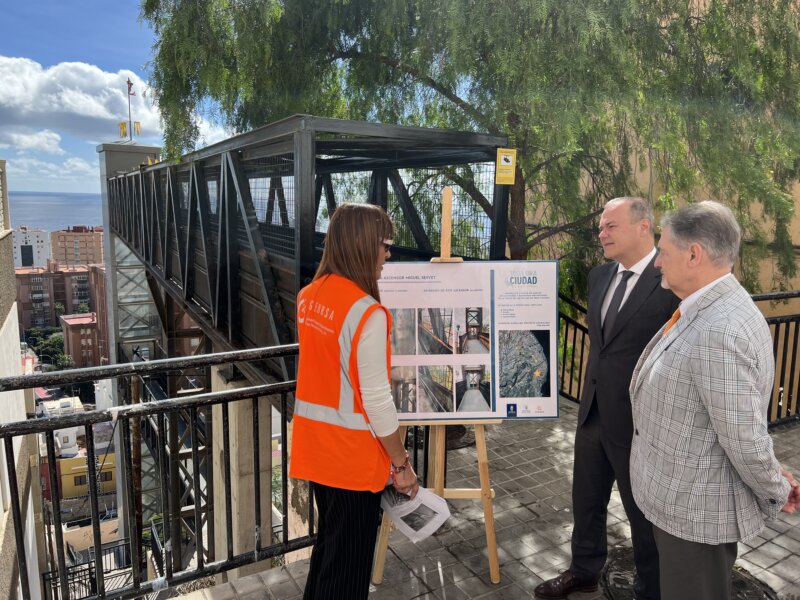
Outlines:
<svg viewBox="0 0 800 600"><path fill-rule="evenodd" d="M25 225L31 229L58 231L74 225L103 224L100 194L9 190L8 203L12 229Z"/></svg>

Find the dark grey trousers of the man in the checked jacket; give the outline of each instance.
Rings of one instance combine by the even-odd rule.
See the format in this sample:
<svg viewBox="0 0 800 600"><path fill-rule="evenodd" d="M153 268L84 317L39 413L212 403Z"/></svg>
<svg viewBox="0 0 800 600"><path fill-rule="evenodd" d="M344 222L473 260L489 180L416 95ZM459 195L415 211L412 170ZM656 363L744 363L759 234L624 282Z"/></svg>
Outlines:
<svg viewBox="0 0 800 600"><path fill-rule="evenodd" d="M730 600L736 542L701 544L653 526L664 600Z"/></svg>

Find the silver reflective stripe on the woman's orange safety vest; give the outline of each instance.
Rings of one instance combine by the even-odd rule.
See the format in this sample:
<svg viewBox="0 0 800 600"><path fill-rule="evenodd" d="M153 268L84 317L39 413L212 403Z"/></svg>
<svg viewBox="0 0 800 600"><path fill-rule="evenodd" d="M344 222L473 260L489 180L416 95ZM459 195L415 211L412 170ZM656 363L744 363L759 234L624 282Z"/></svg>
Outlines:
<svg viewBox="0 0 800 600"><path fill-rule="evenodd" d="M371 431L369 424L363 413L355 411L355 392L353 384L350 381L350 374L345 369L349 368L350 359L352 355L353 335L364 318L364 313L378 303L371 296L364 296L357 300L342 323L342 329L339 332L339 364L342 365L341 377L339 383L339 408L338 410L316 404L314 402L307 402L295 396L294 414L319 421L328 423L330 425L337 425L345 429L353 429L356 431Z"/></svg>

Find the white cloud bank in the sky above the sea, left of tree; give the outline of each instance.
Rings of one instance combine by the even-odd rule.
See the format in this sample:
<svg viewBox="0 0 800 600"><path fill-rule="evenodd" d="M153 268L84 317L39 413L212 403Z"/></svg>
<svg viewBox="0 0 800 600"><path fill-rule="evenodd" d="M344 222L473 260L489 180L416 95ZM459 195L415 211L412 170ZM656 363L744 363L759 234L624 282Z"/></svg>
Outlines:
<svg viewBox="0 0 800 600"><path fill-rule="evenodd" d="M128 96L129 79L133 96ZM158 106L147 82L133 71L110 73L82 62L43 67L28 58L0 55L0 82L0 150L11 154L5 158L16 189L53 189L58 181L96 189L95 148L122 141L118 124L128 122L129 100L131 118L141 124L134 141L162 143ZM231 135L199 115L198 124L198 146Z"/></svg>

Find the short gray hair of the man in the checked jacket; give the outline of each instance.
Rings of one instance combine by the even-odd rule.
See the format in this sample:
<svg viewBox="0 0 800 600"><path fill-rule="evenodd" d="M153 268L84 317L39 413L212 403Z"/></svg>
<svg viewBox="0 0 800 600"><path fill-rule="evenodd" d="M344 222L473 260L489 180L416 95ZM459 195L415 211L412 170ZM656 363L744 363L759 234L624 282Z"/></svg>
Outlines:
<svg viewBox="0 0 800 600"><path fill-rule="evenodd" d="M661 219L679 248L700 244L716 264L732 267L739 255L742 230L733 212L714 200L688 204Z"/></svg>

